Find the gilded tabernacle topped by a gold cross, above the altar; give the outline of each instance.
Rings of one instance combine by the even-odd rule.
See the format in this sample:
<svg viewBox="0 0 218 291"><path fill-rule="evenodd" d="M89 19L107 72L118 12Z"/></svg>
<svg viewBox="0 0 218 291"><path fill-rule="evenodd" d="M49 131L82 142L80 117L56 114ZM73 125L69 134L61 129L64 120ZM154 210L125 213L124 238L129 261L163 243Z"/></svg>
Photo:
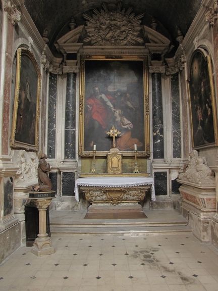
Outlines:
<svg viewBox="0 0 218 291"><path fill-rule="evenodd" d="M122 173L122 154L116 148L116 140L118 134L121 134L119 130L113 125L112 128L106 132L108 135L113 137L113 147L107 154L107 173L108 174L121 174Z"/></svg>

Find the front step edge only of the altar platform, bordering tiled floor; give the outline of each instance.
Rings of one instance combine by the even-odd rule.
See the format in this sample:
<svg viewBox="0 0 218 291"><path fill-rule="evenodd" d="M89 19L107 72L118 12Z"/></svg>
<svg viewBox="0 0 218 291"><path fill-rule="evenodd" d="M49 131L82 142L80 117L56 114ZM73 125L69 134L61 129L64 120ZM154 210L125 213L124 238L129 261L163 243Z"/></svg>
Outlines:
<svg viewBox="0 0 218 291"><path fill-rule="evenodd" d="M146 233L173 233L173 232L192 232L188 225L181 226L151 226L151 227L136 227L136 226L123 226L123 227L50 227L51 233L72 233L72 234L129 234L140 235Z"/></svg>

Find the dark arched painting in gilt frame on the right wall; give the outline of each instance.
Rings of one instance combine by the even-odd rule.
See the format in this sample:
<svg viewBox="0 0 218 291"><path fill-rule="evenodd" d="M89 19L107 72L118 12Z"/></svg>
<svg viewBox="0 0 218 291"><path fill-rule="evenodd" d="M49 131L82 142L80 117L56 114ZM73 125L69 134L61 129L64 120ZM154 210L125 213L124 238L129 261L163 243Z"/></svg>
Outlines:
<svg viewBox="0 0 218 291"><path fill-rule="evenodd" d="M217 116L211 59L201 49L194 51L188 80L192 147L217 146Z"/></svg>

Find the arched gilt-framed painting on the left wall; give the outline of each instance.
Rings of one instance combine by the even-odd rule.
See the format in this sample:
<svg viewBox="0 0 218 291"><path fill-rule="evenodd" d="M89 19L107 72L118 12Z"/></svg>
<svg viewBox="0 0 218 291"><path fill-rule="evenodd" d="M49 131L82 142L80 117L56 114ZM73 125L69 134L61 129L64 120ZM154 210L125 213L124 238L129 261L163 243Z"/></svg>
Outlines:
<svg viewBox="0 0 218 291"><path fill-rule="evenodd" d="M41 74L34 55L18 49L10 144L13 149L38 151L40 86Z"/></svg>

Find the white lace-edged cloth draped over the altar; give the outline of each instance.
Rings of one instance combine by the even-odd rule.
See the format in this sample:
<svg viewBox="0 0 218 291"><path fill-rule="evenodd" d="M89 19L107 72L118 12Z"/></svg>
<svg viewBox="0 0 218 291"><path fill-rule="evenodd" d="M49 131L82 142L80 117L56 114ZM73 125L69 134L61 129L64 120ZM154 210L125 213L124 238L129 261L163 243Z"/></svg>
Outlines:
<svg viewBox="0 0 218 291"><path fill-rule="evenodd" d="M75 198L79 202L79 186L101 186L101 187L132 187L151 185L151 200L155 201L154 180L152 177L86 177L78 178L75 183Z"/></svg>

